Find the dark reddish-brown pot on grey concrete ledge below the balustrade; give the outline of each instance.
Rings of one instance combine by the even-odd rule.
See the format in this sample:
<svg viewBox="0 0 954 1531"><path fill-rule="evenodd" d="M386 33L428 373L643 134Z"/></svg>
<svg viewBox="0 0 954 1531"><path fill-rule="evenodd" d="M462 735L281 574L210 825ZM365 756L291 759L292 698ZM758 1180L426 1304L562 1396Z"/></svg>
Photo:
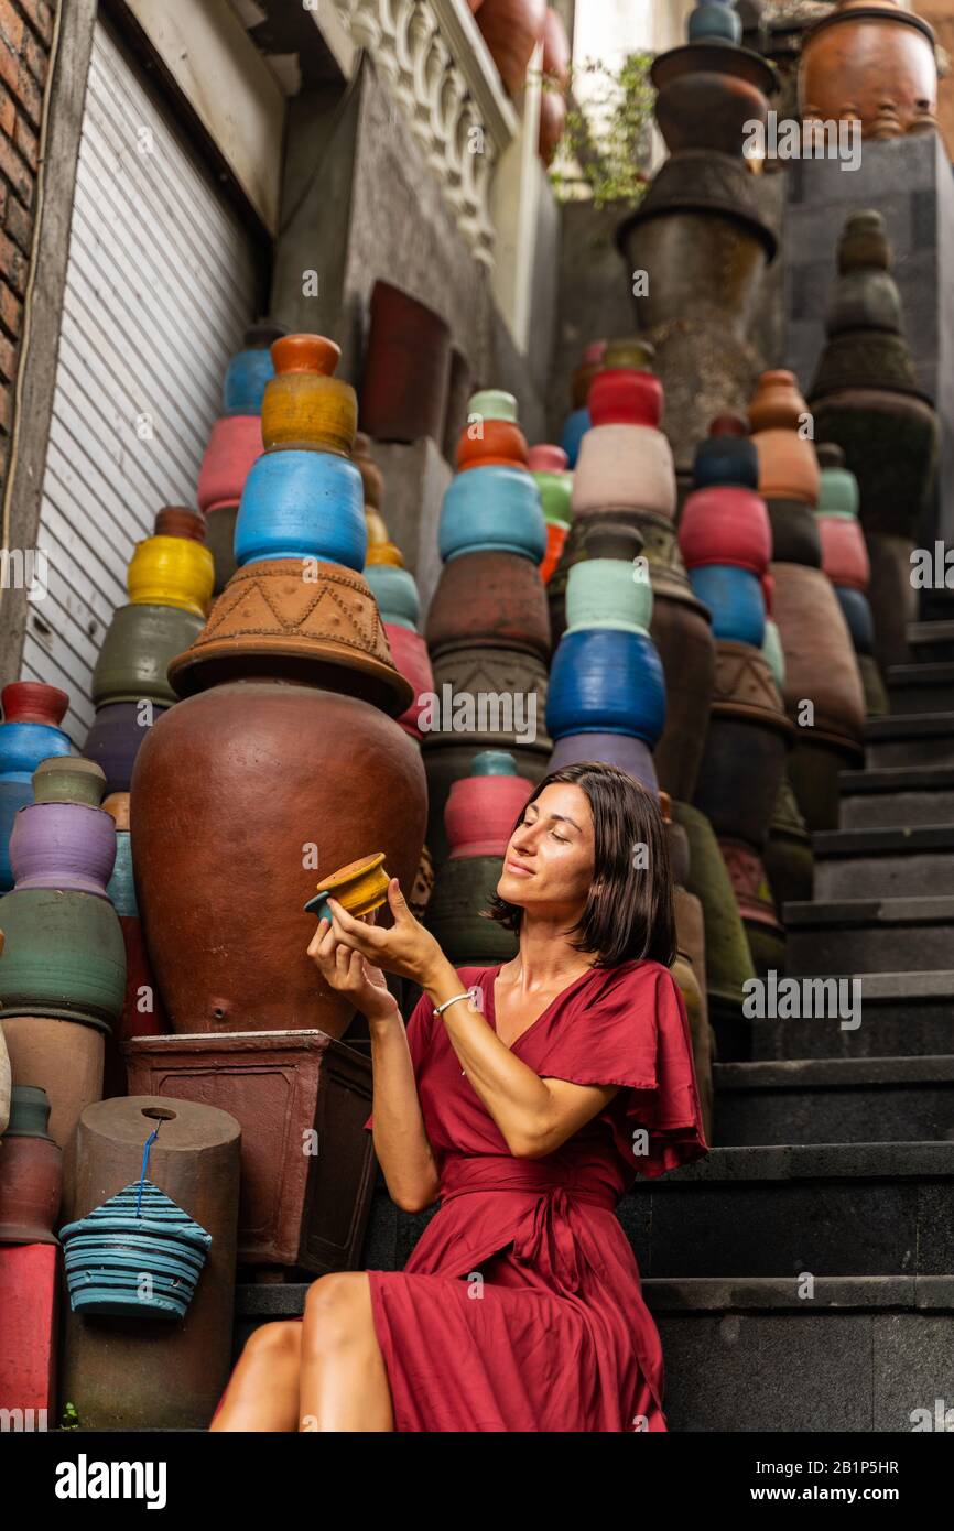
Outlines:
<svg viewBox="0 0 954 1531"><path fill-rule="evenodd" d="M375 282L361 383L361 430L375 441L443 439L450 328L432 308Z"/></svg>

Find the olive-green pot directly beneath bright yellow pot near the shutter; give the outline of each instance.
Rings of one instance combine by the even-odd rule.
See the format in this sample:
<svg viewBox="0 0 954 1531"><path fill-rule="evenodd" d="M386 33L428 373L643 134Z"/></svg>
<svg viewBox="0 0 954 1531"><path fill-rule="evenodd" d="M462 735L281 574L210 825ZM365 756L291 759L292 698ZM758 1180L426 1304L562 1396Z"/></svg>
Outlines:
<svg viewBox="0 0 954 1531"><path fill-rule="evenodd" d="M178 606L119 606L109 625L93 671L93 703L156 701L178 697L165 671L199 637L205 619Z"/></svg>

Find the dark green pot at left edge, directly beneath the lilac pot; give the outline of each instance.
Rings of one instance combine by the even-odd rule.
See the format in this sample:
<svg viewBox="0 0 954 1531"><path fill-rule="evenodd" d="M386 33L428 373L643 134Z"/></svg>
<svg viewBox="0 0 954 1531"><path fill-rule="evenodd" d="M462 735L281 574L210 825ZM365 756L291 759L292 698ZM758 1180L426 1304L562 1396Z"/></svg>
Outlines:
<svg viewBox="0 0 954 1531"><path fill-rule="evenodd" d="M112 903L89 893L23 888L0 899L0 998L8 1015L109 1030L126 995L126 945Z"/></svg>

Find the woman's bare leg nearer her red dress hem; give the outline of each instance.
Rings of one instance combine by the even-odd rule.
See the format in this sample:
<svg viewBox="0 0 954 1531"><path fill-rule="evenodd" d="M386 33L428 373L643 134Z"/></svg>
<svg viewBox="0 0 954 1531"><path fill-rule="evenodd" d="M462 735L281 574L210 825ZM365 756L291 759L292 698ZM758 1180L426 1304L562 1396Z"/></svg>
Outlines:
<svg viewBox="0 0 954 1531"><path fill-rule="evenodd" d="M317 1280L302 1324L300 1430L394 1430L384 1356L363 1271Z"/></svg>

